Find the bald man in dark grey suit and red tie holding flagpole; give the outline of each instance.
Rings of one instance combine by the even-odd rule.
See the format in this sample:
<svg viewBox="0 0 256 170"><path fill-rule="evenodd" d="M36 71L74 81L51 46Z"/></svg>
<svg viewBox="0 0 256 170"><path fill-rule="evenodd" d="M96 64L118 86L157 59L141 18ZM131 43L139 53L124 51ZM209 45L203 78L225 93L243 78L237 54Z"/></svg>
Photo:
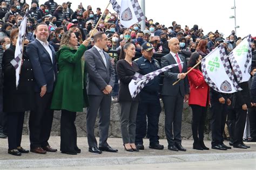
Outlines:
<svg viewBox="0 0 256 170"><path fill-rule="evenodd" d="M186 151L181 145L181 119L183 103L188 100L188 79L186 59L179 55L179 40L171 38L169 40L170 53L161 58L161 67L169 66L175 63L181 63L164 73L163 87L161 95L165 109L165 134L168 141L168 149L172 151ZM174 86L172 83L181 79ZM172 133L173 131L173 133Z"/></svg>

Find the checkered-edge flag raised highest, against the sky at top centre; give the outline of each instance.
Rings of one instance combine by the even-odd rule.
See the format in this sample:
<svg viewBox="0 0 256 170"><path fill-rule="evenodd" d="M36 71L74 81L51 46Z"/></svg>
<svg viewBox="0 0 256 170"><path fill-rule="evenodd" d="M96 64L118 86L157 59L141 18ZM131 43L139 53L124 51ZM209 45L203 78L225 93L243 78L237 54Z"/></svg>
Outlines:
<svg viewBox="0 0 256 170"><path fill-rule="evenodd" d="M113 9L118 13L122 27L129 28L145 19L138 0L110 0Z"/></svg>

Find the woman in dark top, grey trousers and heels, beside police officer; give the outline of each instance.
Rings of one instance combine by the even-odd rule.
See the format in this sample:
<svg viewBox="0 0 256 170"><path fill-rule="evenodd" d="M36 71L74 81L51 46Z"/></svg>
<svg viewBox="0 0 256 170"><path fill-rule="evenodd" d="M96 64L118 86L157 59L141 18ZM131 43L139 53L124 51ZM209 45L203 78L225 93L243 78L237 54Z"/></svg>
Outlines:
<svg viewBox="0 0 256 170"><path fill-rule="evenodd" d="M118 102L120 103L121 133L126 151L139 151L135 145L136 115L138 110L138 95L132 99L129 91L129 83L133 75L139 71L136 62L132 61L135 56L135 46L127 43L122 47L120 60L117 62L117 75L119 78Z"/></svg>

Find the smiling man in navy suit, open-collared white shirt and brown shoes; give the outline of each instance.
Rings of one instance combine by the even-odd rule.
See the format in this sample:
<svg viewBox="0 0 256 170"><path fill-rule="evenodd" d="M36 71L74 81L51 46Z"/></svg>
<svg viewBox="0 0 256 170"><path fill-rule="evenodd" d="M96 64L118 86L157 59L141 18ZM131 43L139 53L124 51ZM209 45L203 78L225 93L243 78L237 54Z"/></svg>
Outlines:
<svg viewBox="0 0 256 170"><path fill-rule="evenodd" d="M54 48L47 41L49 37L48 25L37 25L36 40L26 48L31 60L35 86L35 110L31 110L29 117L30 151L45 154L57 152L48 143L51 133L53 110L50 109L53 84L57 76L57 64Z"/></svg>

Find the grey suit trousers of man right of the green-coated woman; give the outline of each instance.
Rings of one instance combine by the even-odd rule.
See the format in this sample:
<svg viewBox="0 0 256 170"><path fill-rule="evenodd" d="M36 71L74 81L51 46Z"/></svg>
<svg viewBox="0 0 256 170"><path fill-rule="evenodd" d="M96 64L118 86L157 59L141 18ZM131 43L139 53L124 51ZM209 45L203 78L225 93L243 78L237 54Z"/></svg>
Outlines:
<svg viewBox="0 0 256 170"><path fill-rule="evenodd" d="M99 147L109 146L107 137L109 137L110 125L110 95L88 95L90 106L87 108L86 129L89 147L96 147L97 140L95 138L95 122L99 111Z"/></svg>

